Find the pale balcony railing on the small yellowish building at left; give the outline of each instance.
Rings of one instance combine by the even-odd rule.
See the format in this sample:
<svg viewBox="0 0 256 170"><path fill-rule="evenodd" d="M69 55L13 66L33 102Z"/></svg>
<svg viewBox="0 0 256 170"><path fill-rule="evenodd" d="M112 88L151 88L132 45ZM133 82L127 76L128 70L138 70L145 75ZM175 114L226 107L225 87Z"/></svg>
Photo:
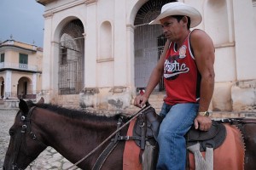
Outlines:
<svg viewBox="0 0 256 170"><path fill-rule="evenodd" d="M18 70L25 70L25 71L38 71L38 66L20 64L20 63L2 62L0 63L0 69L18 69Z"/></svg>

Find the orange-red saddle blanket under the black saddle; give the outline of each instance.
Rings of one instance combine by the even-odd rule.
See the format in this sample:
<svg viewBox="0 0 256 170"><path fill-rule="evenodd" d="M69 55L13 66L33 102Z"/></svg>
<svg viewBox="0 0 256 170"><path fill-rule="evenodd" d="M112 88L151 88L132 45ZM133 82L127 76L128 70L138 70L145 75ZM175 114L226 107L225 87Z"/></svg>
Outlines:
<svg viewBox="0 0 256 170"><path fill-rule="evenodd" d="M136 120L130 123L127 135L132 136L132 130ZM241 170L244 165L245 146L240 130L236 126L224 124L227 131L226 139L217 149L214 150L214 170ZM205 156L205 152L201 152ZM142 170L143 165L139 161L140 148L134 140L125 142L123 155L123 170ZM195 157L189 152L189 170L195 170Z"/></svg>

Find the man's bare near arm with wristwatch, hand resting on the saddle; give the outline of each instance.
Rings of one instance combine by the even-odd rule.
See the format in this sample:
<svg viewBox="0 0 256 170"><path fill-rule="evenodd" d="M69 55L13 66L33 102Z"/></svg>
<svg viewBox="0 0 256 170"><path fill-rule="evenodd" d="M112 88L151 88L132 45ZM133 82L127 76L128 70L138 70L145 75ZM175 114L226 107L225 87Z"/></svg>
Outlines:
<svg viewBox="0 0 256 170"><path fill-rule="evenodd" d="M199 111L208 111L214 89L214 46L206 32L195 30L191 33L191 45L195 54L195 62L201 73L201 91ZM207 131L212 121L207 116L196 116L195 128Z"/></svg>

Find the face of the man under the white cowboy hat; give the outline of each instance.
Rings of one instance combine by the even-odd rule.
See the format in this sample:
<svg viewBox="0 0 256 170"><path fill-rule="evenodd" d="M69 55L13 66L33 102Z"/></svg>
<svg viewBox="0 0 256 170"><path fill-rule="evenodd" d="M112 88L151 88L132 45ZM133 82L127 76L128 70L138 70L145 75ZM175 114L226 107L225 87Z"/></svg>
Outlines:
<svg viewBox="0 0 256 170"><path fill-rule="evenodd" d="M177 42L182 35L184 25L183 20L177 22L176 18L168 16L160 20L160 23L166 38L171 42Z"/></svg>

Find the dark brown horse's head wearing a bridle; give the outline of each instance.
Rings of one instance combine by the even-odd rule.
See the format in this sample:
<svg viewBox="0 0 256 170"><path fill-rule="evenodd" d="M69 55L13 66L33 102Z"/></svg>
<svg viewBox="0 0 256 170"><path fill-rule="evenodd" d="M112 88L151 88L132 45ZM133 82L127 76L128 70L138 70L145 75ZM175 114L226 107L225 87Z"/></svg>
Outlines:
<svg viewBox="0 0 256 170"><path fill-rule="evenodd" d="M9 148L5 155L3 170L25 169L47 147L38 139L36 129L32 127L31 115L34 107L28 106L20 99L19 108L15 123L9 129Z"/></svg>

